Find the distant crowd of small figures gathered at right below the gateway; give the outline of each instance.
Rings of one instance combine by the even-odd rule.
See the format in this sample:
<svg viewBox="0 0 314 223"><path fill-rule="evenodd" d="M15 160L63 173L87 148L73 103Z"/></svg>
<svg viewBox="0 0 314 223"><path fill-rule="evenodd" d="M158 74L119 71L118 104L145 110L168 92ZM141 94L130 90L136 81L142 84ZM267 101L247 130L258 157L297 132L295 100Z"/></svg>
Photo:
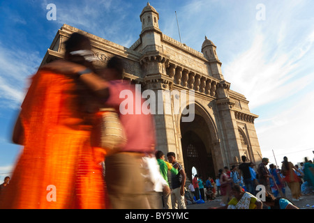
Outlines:
<svg viewBox="0 0 314 223"><path fill-rule="evenodd" d="M283 158L281 169L274 164L269 164L268 158L262 158L262 162L255 169L253 162L248 162L246 156L241 157L239 167L232 165L229 169L224 167L218 170L216 183L211 181L211 194L221 196L220 207L223 208L262 208L262 204L269 208L285 209L297 208L292 201L299 201L301 195L314 193L313 181L313 163L305 158L305 163L298 165L288 162L287 157ZM269 164L269 168L267 168ZM238 170L239 169L239 170ZM209 180L211 178L209 177ZM212 180L212 179L211 179ZM197 188L198 176L193 178L193 187L189 187L195 193L195 200L203 199L200 193L200 187ZM263 185L265 192L265 201L257 198L260 188L257 185ZM292 193L292 201L287 199L285 188L289 187ZM214 193L213 193L214 192ZM197 194L201 194L197 196ZM241 202L240 202L241 201ZM249 201L249 202L246 202ZM244 205L246 203L246 205Z"/></svg>

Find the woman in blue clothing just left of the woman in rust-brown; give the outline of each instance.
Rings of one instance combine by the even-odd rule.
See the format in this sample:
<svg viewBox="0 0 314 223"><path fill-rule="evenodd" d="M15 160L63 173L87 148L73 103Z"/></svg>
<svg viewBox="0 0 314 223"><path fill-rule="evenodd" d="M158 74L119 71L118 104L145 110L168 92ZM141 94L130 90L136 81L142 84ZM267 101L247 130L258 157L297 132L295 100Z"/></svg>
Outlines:
<svg viewBox="0 0 314 223"><path fill-rule="evenodd" d="M281 178L280 171L276 169L274 164L269 164L269 173L271 176L269 178L269 183L274 197L278 197L281 193L285 196L285 185L283 183L283 179Z"/></svg>

